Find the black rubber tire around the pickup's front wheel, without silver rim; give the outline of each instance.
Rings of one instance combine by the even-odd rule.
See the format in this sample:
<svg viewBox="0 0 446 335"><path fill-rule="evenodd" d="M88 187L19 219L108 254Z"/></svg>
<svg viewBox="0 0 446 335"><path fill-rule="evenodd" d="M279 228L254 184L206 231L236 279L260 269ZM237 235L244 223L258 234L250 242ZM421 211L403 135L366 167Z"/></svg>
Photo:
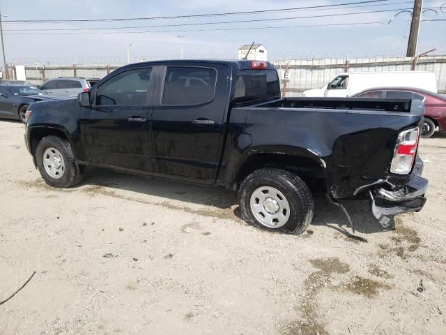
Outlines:
<svg viewBox="0 0 446 335"><path fill-rule="evenodd" d="M64 170L59 179L53 178L47 173L43 164L43 154L49 148L57 149L63 158ZM61 137L49 135L43 137L37 145L36 162L40 175L49 186L56 188L68 188L79 184L84 177L84 166L76 163L70 144Z"/></svg>

